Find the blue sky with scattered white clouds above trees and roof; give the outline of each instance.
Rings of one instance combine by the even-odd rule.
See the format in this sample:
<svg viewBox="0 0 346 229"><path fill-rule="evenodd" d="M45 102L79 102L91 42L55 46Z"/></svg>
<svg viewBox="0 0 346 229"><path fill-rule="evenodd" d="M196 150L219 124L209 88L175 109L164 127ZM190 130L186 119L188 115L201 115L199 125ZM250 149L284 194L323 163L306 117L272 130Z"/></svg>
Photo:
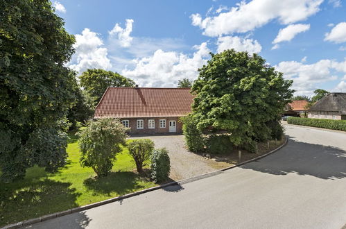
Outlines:
<svg viewBox="0 0 346 229"><path fill-rule="evenodd" d="M345 6L344 6L345 5ZM296 94L346 92L346 2L53 1L76 35L69 66L117 71L141 87L197 78L209 52L259 53Z"/></svg>

